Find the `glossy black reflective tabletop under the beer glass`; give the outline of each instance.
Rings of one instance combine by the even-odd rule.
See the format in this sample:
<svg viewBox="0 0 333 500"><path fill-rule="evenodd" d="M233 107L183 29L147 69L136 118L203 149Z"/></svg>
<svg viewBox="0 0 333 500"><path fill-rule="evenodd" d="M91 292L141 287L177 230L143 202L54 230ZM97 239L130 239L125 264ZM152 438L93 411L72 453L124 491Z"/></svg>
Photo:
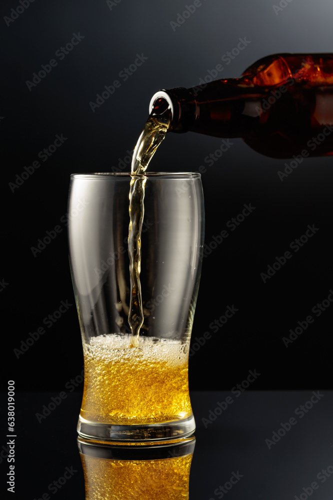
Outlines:
<svg viewBox="0 0 333 500"><path fill-rule="evenodd" d="M1 393L5 409L6 398ZM78 392L16 393L15 428L7 431L9 437L7 415L1 412L1 498L85 498L76 439L80 400ZM190 500L333 498L333 391L234 388L191 392L191 401L196 432ZM179 449L168 456L180 455ZM7 453L14 460L8 462ZM5 486L10 470L14 470L15 495ZM150 498L149 487L151 498L156 498L154 477L141 475L137 494L124 484L116 498ZM139 492L142 488L146 496Z"/></svg>

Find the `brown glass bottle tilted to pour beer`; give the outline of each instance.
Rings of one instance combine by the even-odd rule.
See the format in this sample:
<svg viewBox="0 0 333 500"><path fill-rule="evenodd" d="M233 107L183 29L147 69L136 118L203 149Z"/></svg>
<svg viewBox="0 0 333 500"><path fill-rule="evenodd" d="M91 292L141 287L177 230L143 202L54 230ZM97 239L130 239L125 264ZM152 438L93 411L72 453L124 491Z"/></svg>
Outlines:
<svg viewBox="0 0 333 500"><path fill-rule="evenodd" d="M242 137L275 158L333 154L333 54L274 54L240 78L156 92L150 111L171 107L173 132Z"/></svg>

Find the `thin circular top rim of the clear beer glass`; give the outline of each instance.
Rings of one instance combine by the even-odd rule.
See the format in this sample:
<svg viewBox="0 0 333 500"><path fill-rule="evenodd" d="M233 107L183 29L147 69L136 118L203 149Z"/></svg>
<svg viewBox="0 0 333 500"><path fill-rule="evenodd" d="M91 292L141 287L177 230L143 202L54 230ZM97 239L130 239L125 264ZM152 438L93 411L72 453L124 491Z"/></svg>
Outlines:
<svg viewBox="0 0 333 500"><path fill-rule="evenodd" d="M130 172L91 172L71 173L71 179L130 179L130 178L155 178L155 179L199 179L199 172L144 172L143 174L131 174Z"/></svg>

